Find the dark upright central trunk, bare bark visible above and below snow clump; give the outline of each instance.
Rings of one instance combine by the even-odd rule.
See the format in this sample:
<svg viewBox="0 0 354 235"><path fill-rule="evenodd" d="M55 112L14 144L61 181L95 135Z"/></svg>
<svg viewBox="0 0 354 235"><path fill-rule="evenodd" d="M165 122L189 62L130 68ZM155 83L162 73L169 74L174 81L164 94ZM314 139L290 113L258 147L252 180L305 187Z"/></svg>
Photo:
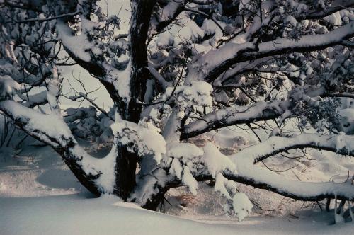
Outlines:
<svg viewBox="0 0 354 235"><path fill-rule="evenodd" d="M132 11L130 26L130 61L132 73L130 74L130 101L120 100L117 103L118 112L122 120L139 122L142 105L137 101L144 101L147 89L147 80L150 77L147 69L147 32L155 1L139 0L135 2ZM127 200L134 190L135 172L137 170L136 153L127 150L126 146L119 145L115 163L116 183L115 195Z"/></svg>

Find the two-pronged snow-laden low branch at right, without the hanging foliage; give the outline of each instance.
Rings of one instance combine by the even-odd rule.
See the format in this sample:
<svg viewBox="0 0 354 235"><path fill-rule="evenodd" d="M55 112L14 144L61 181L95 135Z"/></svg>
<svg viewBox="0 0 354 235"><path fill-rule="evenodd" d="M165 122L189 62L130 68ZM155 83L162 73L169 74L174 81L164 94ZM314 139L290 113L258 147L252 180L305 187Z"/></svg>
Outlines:
<svg viewBox="0 0 354 235"><path fill-rule="evenodd" d="M315 148L354 156L354 137L343 134L299 134L296 137L270 137L267 141L246 148L230 156L236 166L236 174L224 171L224 176L256 188L271 190L296 200L324 200L326 197L353 200L354 186L346 183L311 183L287 180L284 177L254 165L268 156L288 149Z"/></svg>

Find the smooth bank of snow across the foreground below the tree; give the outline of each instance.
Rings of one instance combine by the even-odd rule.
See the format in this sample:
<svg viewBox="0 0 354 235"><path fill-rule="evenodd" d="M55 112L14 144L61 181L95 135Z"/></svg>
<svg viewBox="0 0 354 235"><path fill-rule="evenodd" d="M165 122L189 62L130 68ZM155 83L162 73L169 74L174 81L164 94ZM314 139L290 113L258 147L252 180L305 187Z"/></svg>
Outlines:
<svg viewBox="0 0 354 235"><path fill-rule="evenodd" d="M0 200L0 234L351 234L353 224L329 226L331 213L304 213L299 219L219 217L201 222L142 210L115 197L87 195L5 197Z"/></svg>

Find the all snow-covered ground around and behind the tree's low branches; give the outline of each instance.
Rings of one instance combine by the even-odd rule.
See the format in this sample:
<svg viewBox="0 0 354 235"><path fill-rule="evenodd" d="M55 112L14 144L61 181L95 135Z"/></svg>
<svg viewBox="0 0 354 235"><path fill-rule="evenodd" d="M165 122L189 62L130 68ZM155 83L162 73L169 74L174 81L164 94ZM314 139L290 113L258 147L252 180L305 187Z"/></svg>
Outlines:
<svg viewBox="0 0 354 235"><path fill-rule="evenodd" d="M233 134L232 134L233 133ZM242 148L252 140L224 130L212 135L224 144L224 152ZM209 137L206 137L208 139ZM210 139L208 139L210 141ZM199 140L202 142L202 140ZM239 185L254 202L253 212L244 221L225 215L224 199L207 183L199 193L186 188L170 190L159 212L115 197L93 198L74 178L59 156L50 149L25 143L21 153L0 149L0 234L353 234L354 224L333 224L333 211L321 211L312 202L285 197ZM237 146L227 146L236 143ZM89 149L89 143L83 143ZM97 156L106 154L101 149ZM353 159L312 151L309 159L282 173L299 180L341 181L353 171ZM268 167L287 168L294 162L274 158ZM278 170L281 170L280 168ZM261 208L260 208L261 207Z"/></svg>

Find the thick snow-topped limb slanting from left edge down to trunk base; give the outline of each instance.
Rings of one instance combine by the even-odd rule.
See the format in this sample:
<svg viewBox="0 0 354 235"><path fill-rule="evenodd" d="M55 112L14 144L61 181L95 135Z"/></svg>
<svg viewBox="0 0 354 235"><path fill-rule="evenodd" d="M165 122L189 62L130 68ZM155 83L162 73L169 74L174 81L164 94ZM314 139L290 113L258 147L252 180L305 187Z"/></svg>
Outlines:
<svg viewBox="0 0 354 235"><path fill-rule="evenodd" d="M55 113L38 113L9 100L0 101L0 111L10 117L21 130L55 149L91 193L113 193L115 147L105 158L96 159L79 146L67 124Z"/></svg>

